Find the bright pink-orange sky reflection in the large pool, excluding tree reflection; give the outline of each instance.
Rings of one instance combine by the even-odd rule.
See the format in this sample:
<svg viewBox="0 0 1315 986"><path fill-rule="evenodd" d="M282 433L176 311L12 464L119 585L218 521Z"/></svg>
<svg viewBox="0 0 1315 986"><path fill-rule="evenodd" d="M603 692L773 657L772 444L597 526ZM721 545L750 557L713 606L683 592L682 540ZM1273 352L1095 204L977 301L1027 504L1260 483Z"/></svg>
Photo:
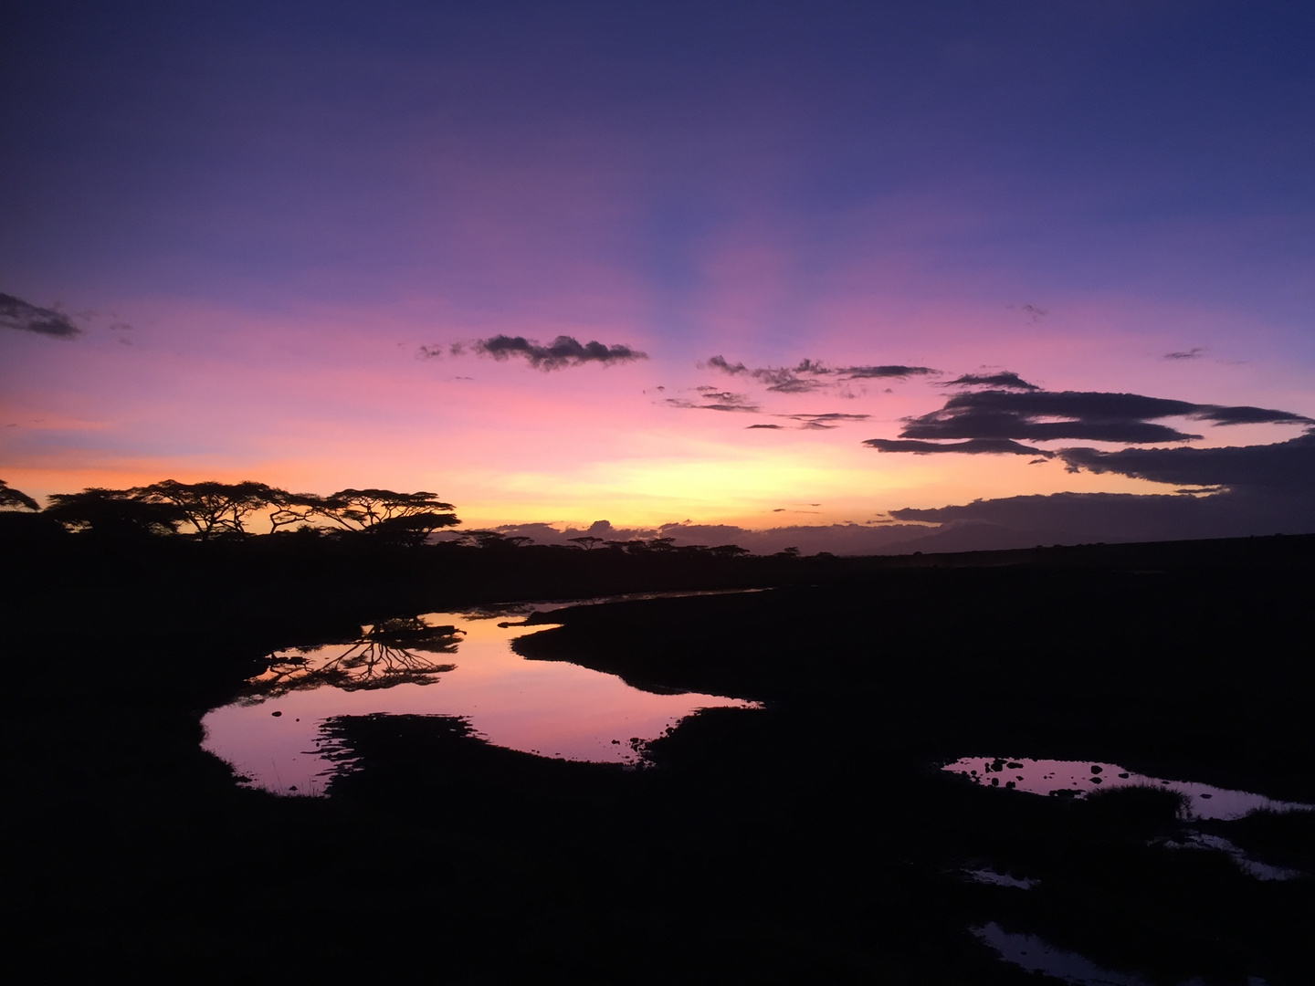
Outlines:
<svg viewBox="0 0 1315 986"><path fill-rule="evenodd" d="M422 655L434 665L455 665L451 670L435 672L425 684L406 681L362 690L320 686L275 698L255 694L203 719L204 748L256 786L316 794L333 768L317 749L320 724L335 715L460 715L500 747L568 760L633 763L631 738L654 739L698 709L753 706L698 693L654 694L614 674L563 661L526 660L510 647L526 628L498 626L498 618L430 613L422 619L464 631L455 652ZM314 668L348 647L334 644L296 656Z"/></svg>

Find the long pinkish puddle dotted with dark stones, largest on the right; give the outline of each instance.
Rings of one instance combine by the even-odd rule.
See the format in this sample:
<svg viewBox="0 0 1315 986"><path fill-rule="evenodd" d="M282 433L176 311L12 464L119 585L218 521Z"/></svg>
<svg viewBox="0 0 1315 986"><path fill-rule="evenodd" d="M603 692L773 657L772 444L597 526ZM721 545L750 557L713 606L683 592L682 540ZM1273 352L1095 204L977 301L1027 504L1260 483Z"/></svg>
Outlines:
<svg viewBox="0 0 1315 986"><path fill-rule="evenodd" d="M1233 791L1193 781L1168 781L1134 773L1118 764L1091 760L1028 760L1026 757L963 757L943 768L980 785L1007 787L1028 794L1081 798L1101 787L1143 785L1164 787L1186 795L1190 816L1230 820L1256 811L1315 810L1315 805L1274 801L1264 794Z"/></svg>

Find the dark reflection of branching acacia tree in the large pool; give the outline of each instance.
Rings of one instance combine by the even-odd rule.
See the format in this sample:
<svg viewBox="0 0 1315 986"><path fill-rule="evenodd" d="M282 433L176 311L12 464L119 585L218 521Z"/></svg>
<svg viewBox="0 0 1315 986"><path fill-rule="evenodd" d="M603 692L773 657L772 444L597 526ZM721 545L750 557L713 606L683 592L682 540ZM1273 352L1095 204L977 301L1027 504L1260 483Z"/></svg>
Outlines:
<svg viewBox="0 0 1315 986"><path fill-rule="evenodd" d="M452 670L455 664L439 664L425 655L456 653L458 635L466 631L454 626L431 627L418 617L385 619L376 623L346 651L323 660L327 647L299 648L297 652L276 651L268 656L268 668L247 682L242 705L258 705L289 692L309 692L331 686L343 692L393 688L394 685L431 685L438 674Z"/></svg>

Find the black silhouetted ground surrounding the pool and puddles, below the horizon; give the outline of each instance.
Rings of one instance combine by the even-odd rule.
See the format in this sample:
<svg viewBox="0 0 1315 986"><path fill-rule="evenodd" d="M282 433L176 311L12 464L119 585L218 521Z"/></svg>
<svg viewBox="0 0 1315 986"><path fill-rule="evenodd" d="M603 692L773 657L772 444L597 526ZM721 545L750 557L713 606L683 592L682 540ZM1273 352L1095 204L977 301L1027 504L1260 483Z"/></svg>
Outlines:
<svg viewBox="0 0 1315 986"><path fill-rule="evenodd" d="M1315 981L1315 814L1190 827L1307 874L1261 881L1165 845L1190 835L1169 791L936 769L1103 760L1315 803L1315 538L680 560L25 535L4 576L3 920L42 978L1053 982L969 931L995 923L1148 982ZM360 769L276 798L199 747L264 655L384 615L753 585L559 610L517 643L765 703L686 720L642 769L343 718Z"/></svg>

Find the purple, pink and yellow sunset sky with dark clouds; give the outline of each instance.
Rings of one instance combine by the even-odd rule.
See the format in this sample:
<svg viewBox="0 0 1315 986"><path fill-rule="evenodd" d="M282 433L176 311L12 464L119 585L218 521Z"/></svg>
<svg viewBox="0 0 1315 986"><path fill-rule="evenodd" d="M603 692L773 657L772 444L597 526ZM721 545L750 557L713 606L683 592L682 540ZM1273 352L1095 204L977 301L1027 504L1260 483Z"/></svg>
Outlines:
<svg viewBox="0 0 1315 986"><path fill-rule="evenodd" d="M7 18L29 494L815 550L1315 530L1310 5Z"/></svg>

